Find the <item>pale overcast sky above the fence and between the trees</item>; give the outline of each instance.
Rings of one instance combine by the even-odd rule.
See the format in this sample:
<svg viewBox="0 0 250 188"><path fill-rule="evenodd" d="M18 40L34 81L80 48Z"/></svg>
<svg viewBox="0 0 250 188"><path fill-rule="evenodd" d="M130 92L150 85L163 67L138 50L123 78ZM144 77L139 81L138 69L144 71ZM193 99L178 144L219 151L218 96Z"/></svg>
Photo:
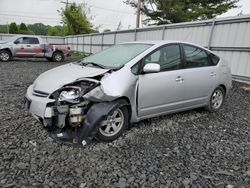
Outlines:
<svg viewBox="0 0 250 188"><path fill-rule="evenodd" d="M66 0L0 0L0 24L7 22L37 23L58 25L61 18L57 10ZM86 3L90 7L89 17L100 30L116 30L121 21L122 29L135 27L135 9L123 3L124 0L69 0L69 2ZM241 11L250 14L250 0L240 0L238 9L233 9L220 17L235 16Z"/></svg>

